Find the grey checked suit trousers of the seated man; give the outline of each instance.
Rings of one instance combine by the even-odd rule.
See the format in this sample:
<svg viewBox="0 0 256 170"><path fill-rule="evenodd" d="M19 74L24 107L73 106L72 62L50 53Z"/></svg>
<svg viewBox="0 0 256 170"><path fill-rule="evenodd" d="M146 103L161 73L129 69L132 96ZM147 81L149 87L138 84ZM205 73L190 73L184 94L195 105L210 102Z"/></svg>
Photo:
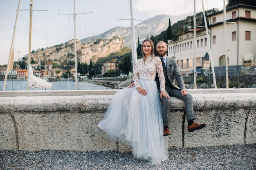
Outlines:
<svg viewBox="0 0 256 170"><path fill-rule="evenodd" d="M160 91L160 89L159 89ZM184 101L185 104L185 112L186 112L186 119L187 121L195 119L194 109L193 109L193 97L191 94L186 94L186 96L182 96L181 89L177 89L175 87L171 87L166 85L165 92L169 94L169 96L179 98L180 100ZM160 92L159 92L160 94ZM162 105L162 115L163 115L163 123L164 126L168 126L168 120L170 116L170 107L171 107L171 99L166 99L163 97L160 98L161 105Z"/></svg>

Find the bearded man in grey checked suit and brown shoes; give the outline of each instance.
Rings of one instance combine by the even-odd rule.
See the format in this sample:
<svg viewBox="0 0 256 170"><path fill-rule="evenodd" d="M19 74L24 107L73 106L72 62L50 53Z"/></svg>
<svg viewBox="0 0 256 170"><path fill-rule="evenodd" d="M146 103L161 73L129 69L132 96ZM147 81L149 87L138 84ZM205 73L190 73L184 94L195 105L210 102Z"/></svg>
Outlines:
<svg viewBox="0 0 256 170"><path fill-rule="evenodd" d="M158 54L158 57L161 59L162 65L163 65L164 77L166 81L165 92L169 96L173 96L184 101L189 132L202 129L206 126L206 124L204 123L198 124L193 121L195 119L194 109L193 109L193 97L191 94L189 94L186 91L183 77L180 72L180 68L177 65L177 62L175 61L175 59L166 56L166 51L167 51L166 43L163 41L159 41L157 43L157 54ZM175 85L174 78L176 79L180 87ZM158 90L160 90L158 76L156 76L155 81L157 82ZM169 114L170 114L171 100L165 97L161 98L160 100L162 105L164 136L168 136L170 135L168 120L169 120Z"/></svg>

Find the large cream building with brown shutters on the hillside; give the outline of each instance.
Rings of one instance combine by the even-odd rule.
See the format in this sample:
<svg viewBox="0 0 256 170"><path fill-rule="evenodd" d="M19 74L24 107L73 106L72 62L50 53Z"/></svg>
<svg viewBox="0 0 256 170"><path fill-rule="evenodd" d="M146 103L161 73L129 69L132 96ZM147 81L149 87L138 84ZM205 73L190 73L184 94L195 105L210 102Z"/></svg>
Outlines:
<svg viewBox="0 0 256 170"><path fill-rule="evenodd" d="M226 8L227 56L229 74L238 74L241 66L255 66L256 53L256 7L237 4ZM223 10L207 16L209 18L209 37L214 68L225 74L225 36ZM209 68L209 53L205 29L196 29L196 66ZM168 56L175 58L182 73L193 69L193 30L177 35L178 40L168 43ZM218 72L216 72L218 75Z"/></svg>

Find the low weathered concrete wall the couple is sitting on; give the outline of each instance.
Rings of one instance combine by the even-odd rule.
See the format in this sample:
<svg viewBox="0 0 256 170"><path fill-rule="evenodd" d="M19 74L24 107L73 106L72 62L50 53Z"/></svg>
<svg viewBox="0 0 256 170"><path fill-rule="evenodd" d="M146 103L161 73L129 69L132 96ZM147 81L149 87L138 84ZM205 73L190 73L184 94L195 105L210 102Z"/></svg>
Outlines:
<svg viewBox="0 0 256 170"><path fill-rule="evenodd" d="M196 121L207 126L188 133L184 103L171 98L169 146L256 143L256 89L189 92ZM113 97L99 94L72 96L70 91L70 96L0 96L0 150L130 152L128 145L109 141L94 130Z"/></svg>

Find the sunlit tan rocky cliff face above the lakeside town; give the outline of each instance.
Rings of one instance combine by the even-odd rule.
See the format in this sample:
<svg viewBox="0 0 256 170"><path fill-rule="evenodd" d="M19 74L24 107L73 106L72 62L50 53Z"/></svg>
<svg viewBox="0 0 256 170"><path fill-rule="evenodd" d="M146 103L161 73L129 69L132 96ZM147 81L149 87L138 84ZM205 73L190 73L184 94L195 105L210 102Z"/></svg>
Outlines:
<svg viewBox="0 0 256 170"><path fill-rule="evenodd" d="M82 44L76 40L77 58L81 63L90 63L98 60L98 58L106 57L111 53L119 51L124 47L124 39L117 36L110 39L97 39L89 43ZM38 49L31 54L31 57L38 61L46 60L61 63L63 61L74 61L74 40L70 40L64 44Z"/></svg>

